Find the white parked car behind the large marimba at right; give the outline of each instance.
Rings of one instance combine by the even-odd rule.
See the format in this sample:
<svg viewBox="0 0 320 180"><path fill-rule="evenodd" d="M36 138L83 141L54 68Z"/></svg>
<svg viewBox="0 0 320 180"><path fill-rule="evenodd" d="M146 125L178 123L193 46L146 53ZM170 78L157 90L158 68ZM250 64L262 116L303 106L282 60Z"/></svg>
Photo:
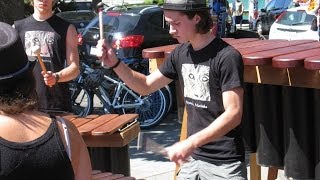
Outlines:
<svg viewBox="0 0 320 180"><path fill-rule="evenodd" d="M288 9L272 24L269 39L319 40L317 18L307 7Z"/></svg>

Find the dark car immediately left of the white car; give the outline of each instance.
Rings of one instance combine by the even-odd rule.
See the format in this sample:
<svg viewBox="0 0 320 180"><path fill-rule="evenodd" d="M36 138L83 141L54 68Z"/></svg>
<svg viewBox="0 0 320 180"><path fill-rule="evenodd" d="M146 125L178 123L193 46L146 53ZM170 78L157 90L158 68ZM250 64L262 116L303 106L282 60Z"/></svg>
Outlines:
<svg viewBox="0 0 320 180"><path fill-rule="evenodd" d="M253 22L253 29L260 35L267 35L277 17L291 6L292 0L271 0L260 10L257 20Z"/></svg>

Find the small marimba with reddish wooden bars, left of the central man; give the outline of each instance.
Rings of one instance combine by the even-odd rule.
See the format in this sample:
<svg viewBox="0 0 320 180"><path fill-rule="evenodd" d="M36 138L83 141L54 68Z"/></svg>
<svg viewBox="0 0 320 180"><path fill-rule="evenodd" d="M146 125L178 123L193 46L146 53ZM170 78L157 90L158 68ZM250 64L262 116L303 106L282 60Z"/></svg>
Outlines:
<svg viewBox="0 0 320 180"><path fill-rule="evenodd" d="M130 176L128 144L140 132L138 114L104 114L78 117L61 115L79 130L89 147L92 168Z"/></svg>

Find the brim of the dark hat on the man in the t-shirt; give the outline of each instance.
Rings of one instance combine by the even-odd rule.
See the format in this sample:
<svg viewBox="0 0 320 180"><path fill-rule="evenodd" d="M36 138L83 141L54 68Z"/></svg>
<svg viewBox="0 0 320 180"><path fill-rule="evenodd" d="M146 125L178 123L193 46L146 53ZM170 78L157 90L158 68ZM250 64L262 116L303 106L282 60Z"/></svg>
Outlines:
<svg viewBox="0 0 320 180"><path fill-rule="evenodd" d="M206 4L175 4L175 3L164 3L161 8L163 10L173 11L207 11L210 10Z"/></svg>

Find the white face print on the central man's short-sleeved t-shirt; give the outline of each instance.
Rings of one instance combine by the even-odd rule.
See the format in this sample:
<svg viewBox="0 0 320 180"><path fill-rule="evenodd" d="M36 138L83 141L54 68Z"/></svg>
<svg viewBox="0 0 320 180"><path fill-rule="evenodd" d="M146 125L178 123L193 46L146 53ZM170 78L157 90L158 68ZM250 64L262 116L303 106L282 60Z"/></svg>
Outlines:
<svg viewBox="0 0 320 180"><path fill-rule="evenodd" d="M200 101L210 101L208 66L182 64L182 77L184 82L184 96Z"/></svg>

